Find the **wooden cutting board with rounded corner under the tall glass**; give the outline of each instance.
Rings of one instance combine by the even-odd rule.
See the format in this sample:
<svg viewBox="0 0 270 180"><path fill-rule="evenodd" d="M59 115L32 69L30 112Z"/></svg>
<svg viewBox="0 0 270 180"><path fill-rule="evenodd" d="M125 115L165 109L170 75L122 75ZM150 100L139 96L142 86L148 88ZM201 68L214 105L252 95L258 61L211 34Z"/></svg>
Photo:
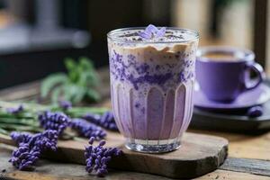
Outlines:
<svg viewBox="0 0 270 180"><path fill-rule="evenodd" d="M117 132L108 132L107 147L119 147L121 157L112 158L109 166L173 178L193 178L218 168L228 154L228 140L216 136L185 133L179 149L163 154L145 154L124 148L124 139ZM0 135L0 142L14 146L8 136ZM61 162L85 164L84 150L87 140L59 140L57 152L45 157Z"/></svg>

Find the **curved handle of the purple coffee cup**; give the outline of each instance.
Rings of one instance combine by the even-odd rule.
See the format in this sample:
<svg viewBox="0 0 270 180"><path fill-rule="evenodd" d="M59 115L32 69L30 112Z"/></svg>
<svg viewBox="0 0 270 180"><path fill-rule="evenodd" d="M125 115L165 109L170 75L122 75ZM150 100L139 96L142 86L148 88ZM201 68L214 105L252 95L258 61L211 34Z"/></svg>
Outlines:
<svg viewBox="0 0 270 180"><path fill-rule="evenodd" d="M254 71L256 76L254 79L250 79L250 72ZM264 68L258 64L257 62L253 62L252 64L247 64L245 79L244 79L244 91L251 90L260 85L263 80L266 78L266 74L264 72Z"/></svg>

